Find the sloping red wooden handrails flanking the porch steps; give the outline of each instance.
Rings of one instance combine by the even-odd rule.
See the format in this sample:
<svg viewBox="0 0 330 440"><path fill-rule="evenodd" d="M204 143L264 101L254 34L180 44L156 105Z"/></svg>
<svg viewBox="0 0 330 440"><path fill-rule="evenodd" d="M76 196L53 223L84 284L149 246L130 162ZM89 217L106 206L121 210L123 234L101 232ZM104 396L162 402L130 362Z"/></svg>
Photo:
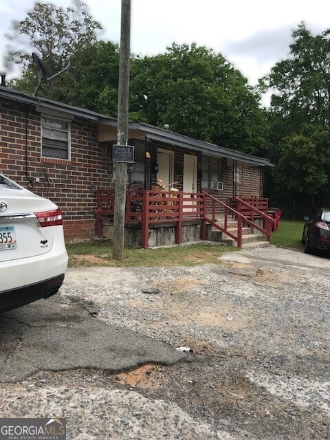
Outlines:
<svg viewBox="0 0 330 440"><path fill-rule="evenodd" d="M254 206L249 205L247 202L243 201L242 199L239 199L239 197L234 197L234 199L237 199L236 202L239 203L240 206L244 206L245 208L249 208L250 212L252 213L252 219L254 218L262 218L263 219L263 227L256 225L256 223L253 223L252 219L248 219L245 217L241 212L238 210L235 210L231 206L226 205L223 203L223 201L220 201L219 199L216 199L212 195L208 194L207 192L203 192L205 195L205 203L211 204L211 215L212 217L208 217L208 214L204 215L204 219L202 221L202 228L201 228L201 239L206 240L206 223L210 223L214 228L217 228L221 230L224 234L227 234L232 239L237 241L237 246L241 248L242 241L243 241L243 225L248 224L252 228L252 232L254 229L259 230L262 234L265 234L267 237L267 241L270 241L271 235L272 235L272 225L275 222L275 220L272 217L269 217L267 214L259 210L258 208L255 208ZM223 226L219 225L217 223L217 207L221 206L223 209ZM234 217L234 219L237 221L237 234L233 234L228 230L228 216L230 215L231 218ZM254 217L253 217L254 216Z"/></svg>

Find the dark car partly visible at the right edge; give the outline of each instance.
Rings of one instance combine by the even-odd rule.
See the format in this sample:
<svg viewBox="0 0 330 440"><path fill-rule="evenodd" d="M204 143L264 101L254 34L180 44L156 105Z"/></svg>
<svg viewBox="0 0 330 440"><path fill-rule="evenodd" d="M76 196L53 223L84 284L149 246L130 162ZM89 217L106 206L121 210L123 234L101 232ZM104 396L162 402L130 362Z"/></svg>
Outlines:
<svg viewBox="0 0 330 440"><path fill-rule="evenodd" d="M301 243L305 244L306 254L330 251L330 208L321 208L305 223Z"/></svg>

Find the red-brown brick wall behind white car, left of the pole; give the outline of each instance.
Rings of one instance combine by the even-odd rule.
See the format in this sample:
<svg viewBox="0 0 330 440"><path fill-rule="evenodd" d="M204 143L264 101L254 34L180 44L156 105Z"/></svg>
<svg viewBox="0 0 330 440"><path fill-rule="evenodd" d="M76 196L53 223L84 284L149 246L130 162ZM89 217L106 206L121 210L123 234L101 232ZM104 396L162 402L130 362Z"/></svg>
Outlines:
<svg viewBox="0 0 330 440"><path fill-rule="evenodd" d="M97 134L96 124L74 120L71 160L41 157L41 114L0 101L0 173L25 188L41 179L30 190L61 208L66 241L95 236L94 190L109 186L112 175L111 148L98 144Z"/></svg>

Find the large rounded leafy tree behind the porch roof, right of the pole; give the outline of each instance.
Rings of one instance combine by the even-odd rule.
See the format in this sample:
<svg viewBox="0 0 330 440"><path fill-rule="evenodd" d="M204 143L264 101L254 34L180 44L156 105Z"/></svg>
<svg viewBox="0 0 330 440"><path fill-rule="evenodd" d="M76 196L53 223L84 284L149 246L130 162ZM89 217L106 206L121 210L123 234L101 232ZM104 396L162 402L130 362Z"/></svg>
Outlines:
<svg viewBox="0 0 330 440"><path fill-rule="evenodd" d="M252 154L267 146L259 95L221 54L192 44L131 64L131 117Z"/></svg>

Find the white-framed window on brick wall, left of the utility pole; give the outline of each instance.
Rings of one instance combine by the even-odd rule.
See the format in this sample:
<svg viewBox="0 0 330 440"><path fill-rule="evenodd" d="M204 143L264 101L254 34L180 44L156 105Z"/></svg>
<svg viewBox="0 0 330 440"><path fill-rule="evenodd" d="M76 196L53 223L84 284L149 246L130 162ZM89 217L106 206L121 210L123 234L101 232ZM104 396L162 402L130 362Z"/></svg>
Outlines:
<svg viewBox="0 0 330 440"><path fill-rule="evenodd" d="M54 159L69 159L71 124L67 120L41 118L41 137L43 157Z"/></svg>

